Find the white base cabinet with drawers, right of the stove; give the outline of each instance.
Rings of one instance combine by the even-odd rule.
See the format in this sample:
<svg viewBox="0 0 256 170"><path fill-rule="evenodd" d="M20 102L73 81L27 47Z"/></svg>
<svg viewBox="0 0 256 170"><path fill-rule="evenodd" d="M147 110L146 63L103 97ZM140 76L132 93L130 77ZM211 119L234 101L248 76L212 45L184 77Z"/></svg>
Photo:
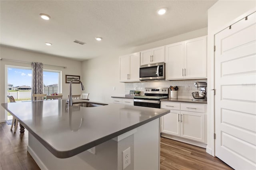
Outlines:
<svg viewBox="0 0 256 170"><path fill-rule="evenodd" d="M162 133L205 142L205 104L161 102L161 108L173 108L161 118Z"/></svg>

